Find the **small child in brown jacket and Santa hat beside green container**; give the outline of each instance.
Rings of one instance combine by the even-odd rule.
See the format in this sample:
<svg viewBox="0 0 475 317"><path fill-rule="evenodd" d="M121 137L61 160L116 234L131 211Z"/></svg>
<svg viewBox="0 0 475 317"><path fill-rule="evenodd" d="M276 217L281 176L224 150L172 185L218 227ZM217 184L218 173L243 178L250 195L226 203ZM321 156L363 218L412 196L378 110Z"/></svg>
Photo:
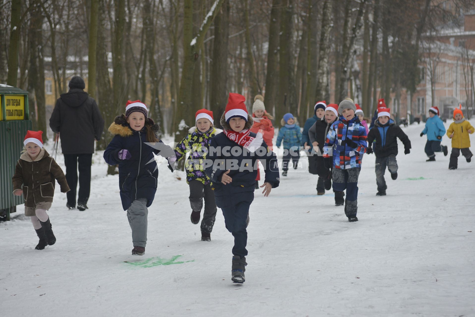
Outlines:
<svg viewBox="0 0 475 317"><path fill-rule="evenodd" d="M25 197L25 216L30 217L39 238L35 250L43 250L56 242L46 213L53 202L55 179L61 186L62 193L69 191L63 170L43 148L42 134L43 131L27 131L23 141L23 154L12 177L13 194L23 194Z"/></svg>

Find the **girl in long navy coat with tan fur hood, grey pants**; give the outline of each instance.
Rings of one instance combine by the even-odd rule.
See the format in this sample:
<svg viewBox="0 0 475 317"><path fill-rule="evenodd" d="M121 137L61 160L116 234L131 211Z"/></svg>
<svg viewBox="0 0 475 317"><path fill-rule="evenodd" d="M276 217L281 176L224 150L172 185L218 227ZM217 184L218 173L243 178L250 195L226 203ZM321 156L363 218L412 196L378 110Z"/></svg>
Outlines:
<svg viewBox="0 0 475 317"><path fill-rule="evenodd" d="M109 127L114 138L104 151L107 164L119 165L120 197L132 229L133 255L143 255L147 243L147 208L152 205L158 182L153 153L174 156L173 150L158 139L160 127L147 112L145 103L129 100L125 115L115 117Z"/></svg>

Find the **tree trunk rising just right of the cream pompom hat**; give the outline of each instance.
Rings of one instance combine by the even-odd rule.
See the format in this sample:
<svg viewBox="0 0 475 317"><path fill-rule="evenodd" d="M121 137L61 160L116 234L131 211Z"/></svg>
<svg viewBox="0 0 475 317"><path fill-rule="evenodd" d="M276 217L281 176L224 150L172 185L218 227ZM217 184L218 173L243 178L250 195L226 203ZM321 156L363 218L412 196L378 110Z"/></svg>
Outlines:
<svg viewBox="0 0 475 317"><path fill-rule="evenodd" d="M267 51L267 71L266 71L266 110L275 114L273 111L277 104L277 91L279 83L277 75L279 69L279 20L280 6L282 0L273 0L270 12L269 23L269 47Z"/></svg>

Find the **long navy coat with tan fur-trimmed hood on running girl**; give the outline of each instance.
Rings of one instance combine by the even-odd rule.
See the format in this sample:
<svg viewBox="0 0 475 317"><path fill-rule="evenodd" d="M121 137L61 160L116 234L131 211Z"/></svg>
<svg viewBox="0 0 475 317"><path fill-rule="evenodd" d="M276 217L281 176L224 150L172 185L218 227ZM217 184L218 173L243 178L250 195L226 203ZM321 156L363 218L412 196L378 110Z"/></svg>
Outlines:
<svg viewBox="0 0 475 317"><path fill-rule="evenodd" d="M147 118L141 131L134 131L125 120L125 116L117 116L109 127L114 138L104 151L104 160L109 165L119 165L119 188L123 210L132 205L138 198L147 199L147 207L152 205L158 182L158 167L153 153L161 156L173 155L170 146L162 141L150 146L147 142L146 126L158 131L152 119ZM132 155L129 159L121 160L119 151L126 149ZM171 152L170 152L171 151ZM173 154L171 154L173 153Z"/></svg>

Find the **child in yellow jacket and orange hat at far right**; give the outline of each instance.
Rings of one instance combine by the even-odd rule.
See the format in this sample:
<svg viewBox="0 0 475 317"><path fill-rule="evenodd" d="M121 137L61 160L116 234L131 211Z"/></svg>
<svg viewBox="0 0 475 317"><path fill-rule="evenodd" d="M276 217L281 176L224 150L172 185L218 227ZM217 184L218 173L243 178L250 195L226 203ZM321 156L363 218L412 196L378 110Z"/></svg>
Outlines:
<svg viewBox="0 0 475 317"><path fill-rule="evenodd" d="M475 129L470 122L466 121L462 113L462 105L454 110L454 122L450 124L447 130L447 136L452 139L452 153L450 154L450 162L448 169L457 169L458 156L460 151L465 156L467 162L472 160L472 152L470 152L470 136L468 133L474 133Z"/></svg>

